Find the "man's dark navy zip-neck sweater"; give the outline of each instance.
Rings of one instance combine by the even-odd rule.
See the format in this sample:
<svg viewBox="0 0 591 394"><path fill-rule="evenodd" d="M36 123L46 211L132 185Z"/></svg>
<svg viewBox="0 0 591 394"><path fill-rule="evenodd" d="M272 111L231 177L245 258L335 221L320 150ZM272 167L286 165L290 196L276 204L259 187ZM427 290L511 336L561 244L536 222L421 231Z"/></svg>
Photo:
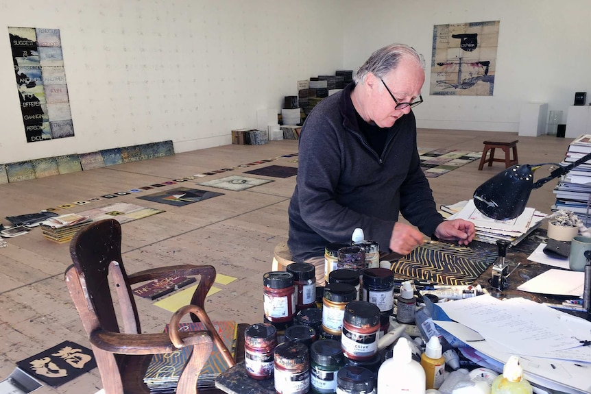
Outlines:
<svg viewBox="0 0 591 394"><path fill-rule="evenodd" d="M356 227L387 251L399 212L429 236L443 221L420 169L413 113L383 129L388 136L379 156L357 125L353 88L322 100L302 127L288 210L295 261L324 255L328 243L349 243Z"/></svg>

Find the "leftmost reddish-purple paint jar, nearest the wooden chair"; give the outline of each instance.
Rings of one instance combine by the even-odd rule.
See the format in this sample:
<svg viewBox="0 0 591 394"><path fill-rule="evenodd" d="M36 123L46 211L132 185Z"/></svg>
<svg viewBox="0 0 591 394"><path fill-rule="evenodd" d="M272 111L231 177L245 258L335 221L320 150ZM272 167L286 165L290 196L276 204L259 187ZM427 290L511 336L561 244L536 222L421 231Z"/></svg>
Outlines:
<svg viewBox="0 0 591 394"><path fill-rule="evenodd" d="M253 324L244 331L244 367L251 378L271 378L276 346L277 330L271 324Z"/></svg>

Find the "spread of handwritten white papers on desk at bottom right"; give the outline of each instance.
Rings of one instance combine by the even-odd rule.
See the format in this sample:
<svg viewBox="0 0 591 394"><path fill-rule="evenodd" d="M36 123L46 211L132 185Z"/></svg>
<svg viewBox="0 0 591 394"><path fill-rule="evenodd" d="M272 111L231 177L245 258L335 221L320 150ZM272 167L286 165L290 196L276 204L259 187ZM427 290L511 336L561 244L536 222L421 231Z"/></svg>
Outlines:
<svg viewBox="0 0 591 394"><path fill-rule="evenodd" d="M522 298L480 295L436 305L446 316L438 314L435 324L481 356L501 363L519 356L532 384L551 392L591 393L589 321Z"/></svg>

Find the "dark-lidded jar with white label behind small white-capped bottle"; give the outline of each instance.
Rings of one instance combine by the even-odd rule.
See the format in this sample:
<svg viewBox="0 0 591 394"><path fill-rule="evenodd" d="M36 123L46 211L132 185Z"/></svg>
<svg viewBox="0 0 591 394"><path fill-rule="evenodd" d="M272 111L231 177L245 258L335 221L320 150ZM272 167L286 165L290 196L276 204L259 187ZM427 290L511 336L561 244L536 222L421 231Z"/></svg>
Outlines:
<svg viewBox="0 0 591 394"><path fill-rule="evenodd" d="M385 268L363 271L361 299L380 308L380 326L387 331L389 317L394 312L394 272Z"/></svg>

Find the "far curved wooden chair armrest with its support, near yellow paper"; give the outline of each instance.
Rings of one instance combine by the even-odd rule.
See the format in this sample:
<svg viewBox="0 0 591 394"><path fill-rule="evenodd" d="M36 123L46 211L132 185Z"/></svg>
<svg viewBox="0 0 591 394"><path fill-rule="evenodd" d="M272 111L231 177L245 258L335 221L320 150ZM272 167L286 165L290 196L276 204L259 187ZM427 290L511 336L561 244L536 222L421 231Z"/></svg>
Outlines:
<svg viewBox="0 0 591 394"><path fill-rule="evenodd" d="M130 284L136 284L147 280L166 278L167 276L194 275L200 275L201 278L193 297L191 297L191 304L203 308L205 305L205 297L215 281L215 267L212 265L182 264L170 267L158 267L132 273L131 275L128 275L128 280ZM193 321L195 321L195 319L193 319Z"/></svg>

